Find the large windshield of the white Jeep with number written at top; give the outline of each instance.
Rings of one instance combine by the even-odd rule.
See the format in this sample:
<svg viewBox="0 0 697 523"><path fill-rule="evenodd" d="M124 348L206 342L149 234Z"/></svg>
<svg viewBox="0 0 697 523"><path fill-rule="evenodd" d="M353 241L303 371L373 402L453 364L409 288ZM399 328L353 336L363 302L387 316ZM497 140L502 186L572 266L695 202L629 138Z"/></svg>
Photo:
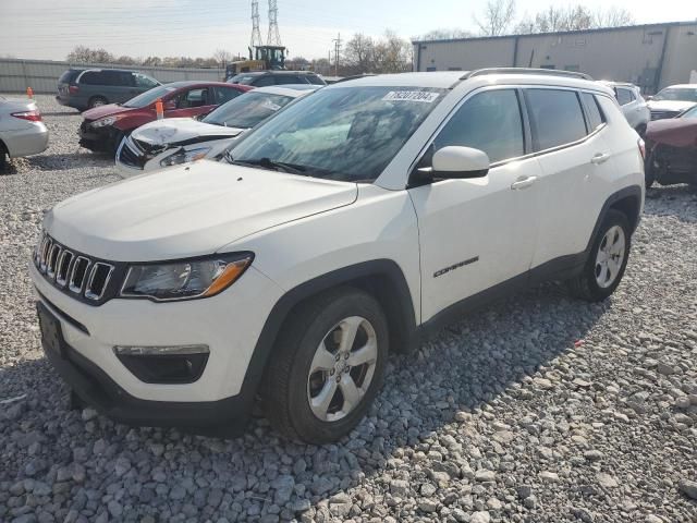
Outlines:
<svg viewBox="0 0 697 523"><path fill-rule="evenodd" d="M344 182L372 182L445 89L340 87L298 100L236 146L229 159ZM289 169L290 170L290 169Z"/></svg>

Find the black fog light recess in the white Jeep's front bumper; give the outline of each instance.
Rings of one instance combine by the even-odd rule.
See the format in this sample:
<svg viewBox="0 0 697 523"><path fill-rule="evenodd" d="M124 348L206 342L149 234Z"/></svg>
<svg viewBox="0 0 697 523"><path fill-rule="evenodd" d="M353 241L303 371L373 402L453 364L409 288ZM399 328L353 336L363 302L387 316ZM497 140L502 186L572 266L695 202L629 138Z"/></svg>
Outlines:
<svg viewBox="0 0 697 523"><path fill-rule="evenodd" d="M146 384L193 384L206 368L208 345L113 348L123 365Z"/></svg>

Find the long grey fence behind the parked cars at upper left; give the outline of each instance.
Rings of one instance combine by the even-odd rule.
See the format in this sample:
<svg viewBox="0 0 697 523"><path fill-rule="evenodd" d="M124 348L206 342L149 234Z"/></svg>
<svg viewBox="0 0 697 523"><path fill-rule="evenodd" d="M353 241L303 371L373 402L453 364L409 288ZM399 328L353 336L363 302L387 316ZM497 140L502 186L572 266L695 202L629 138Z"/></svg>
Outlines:
<svg viewBox="0 0 697 523"><path fill-rule="evenodd" d="M0 93L24 93L32 87L35 93L56 93L58 78L70 68L78 69L129 69L152 76L162 83L181 80L222 80L222 69L173 69L154 66L130 66L108 63L70 63L51 60L0 59Z"/></svg>

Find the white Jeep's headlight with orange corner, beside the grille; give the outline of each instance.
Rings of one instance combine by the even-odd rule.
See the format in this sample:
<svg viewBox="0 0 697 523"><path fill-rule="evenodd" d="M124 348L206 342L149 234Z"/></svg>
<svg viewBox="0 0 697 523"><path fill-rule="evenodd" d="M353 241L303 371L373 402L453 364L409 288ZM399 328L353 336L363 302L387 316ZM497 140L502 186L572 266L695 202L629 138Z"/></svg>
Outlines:
<svg viewBox="0 0 697 523"><path fill-rule="evenodd" d="M232 285L254 259L252 253L221 254L167 264L132 265L121 297L156 302L209 297Z"/></svg>

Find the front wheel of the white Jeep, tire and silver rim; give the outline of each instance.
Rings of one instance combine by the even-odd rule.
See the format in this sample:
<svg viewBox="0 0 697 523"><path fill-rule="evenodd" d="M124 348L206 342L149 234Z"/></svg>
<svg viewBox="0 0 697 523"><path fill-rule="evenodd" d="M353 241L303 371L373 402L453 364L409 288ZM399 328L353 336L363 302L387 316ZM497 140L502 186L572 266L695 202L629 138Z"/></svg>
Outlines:
<svg viewBox="0 0 697 523"><path fill-rule="evenodd" d="M338 340L351 339L351 332L353 343L342 346ZM289 439L315 445L347 435L382 386L388 343L382 308L360 290L335 289L301 305L279 333L261 385L271 425Z"/></svg>

